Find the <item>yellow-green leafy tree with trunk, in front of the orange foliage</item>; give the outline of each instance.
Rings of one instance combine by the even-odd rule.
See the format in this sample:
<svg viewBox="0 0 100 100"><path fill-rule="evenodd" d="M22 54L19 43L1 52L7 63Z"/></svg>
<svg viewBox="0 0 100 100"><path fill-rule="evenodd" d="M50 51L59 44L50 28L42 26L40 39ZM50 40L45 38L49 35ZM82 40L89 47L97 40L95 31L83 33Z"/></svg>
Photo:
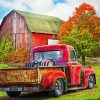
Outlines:
<svg viewBox="0 0 100 100"><path fill-rule="evenodd" d="M72 29L67 36L63 35L62 43L74 46L78 56L82 57L83 65L85 65L85 56L89 56L97 47L91 33L86 30L80 31L77 28Z"/></svg>

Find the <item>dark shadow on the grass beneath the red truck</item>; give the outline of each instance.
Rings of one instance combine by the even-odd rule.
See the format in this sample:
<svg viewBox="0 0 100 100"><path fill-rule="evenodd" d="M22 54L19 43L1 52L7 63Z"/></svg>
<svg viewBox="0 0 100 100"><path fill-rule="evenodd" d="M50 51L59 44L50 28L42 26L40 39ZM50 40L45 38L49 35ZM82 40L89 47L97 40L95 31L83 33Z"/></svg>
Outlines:
<svg viewBox="0 0 100 100"><path fill-rule="evenodd" d="M64 93L62 96L70 94L71 93L75 93L76 91L68 91L66 93ZM4 96L4 97L0 97L0 100L47 100L47 99L52 99L55 98L57 100L57 97L52 97L48 94L48 92L37 92L37 93L22 93L19 97L8 97L8 96Z"/></svg>

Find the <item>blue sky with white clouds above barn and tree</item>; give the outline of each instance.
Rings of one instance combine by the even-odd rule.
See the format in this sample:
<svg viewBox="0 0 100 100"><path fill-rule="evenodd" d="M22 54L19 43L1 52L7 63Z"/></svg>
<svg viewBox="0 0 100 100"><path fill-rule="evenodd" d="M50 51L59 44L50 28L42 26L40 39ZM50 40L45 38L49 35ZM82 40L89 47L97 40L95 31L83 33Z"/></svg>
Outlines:
<svg viewBox="0 0 100 100"><path fill-rule="evenodd" d="M82 3L94 6L100 17L100 0L0 0L0 23L14 9L55 16L66 21L72 16L75 7Z"/></svg>

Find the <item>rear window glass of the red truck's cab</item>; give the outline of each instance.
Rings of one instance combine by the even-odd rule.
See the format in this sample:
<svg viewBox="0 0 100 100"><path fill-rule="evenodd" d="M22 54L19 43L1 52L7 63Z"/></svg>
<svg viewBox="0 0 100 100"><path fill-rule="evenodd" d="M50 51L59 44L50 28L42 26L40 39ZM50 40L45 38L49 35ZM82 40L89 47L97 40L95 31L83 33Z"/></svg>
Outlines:
<svg viewBox="0 0 100 100"><path fill-rule="evenodd" d="M41 61L43 59L61 59L61 51L46 51L46 52L35 52L34 53L34 60Z"/></svg>

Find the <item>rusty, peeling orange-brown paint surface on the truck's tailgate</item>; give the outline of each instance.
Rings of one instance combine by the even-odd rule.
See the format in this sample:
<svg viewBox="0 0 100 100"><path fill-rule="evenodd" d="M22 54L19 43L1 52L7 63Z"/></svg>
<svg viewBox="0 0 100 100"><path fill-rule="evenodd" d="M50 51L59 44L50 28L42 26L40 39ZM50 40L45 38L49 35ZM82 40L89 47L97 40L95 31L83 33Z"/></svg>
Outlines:
<svg viewBox="0 0 100 100"><path fill-rule="evenodd" d="M0 83L35 82L36 70L7 70L0 72Z"/></svg>

